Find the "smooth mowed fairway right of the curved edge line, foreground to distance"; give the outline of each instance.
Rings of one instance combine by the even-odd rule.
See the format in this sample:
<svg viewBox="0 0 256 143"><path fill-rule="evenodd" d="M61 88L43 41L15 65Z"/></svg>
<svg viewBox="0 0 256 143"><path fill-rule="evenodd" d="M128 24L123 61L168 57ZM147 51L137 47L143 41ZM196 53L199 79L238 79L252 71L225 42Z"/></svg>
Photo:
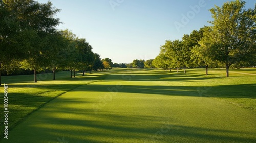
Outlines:
<svg viewBox="0 0 256 143"><path fill-rule="evenodd" d="M256 141L256 113L199 96L200 83L175 81L174 73L162 80L162 71L119 72L52 100L13 129L8 141Z"/></svg>

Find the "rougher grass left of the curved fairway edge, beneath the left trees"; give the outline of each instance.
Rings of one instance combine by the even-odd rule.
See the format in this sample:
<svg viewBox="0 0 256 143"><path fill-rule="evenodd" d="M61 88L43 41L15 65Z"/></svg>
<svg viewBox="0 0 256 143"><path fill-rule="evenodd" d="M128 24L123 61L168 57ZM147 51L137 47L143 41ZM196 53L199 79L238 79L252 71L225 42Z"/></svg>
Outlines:
<svg viewBox="0 0 256 143"><path fill-rule="evenodd" d="M107 73L95 73L86 77L77 74L77 77L71 79L69 72L59 72L56 74L58 79L56 81L51 80L52 74L40 74L37 76L39 79L37 83L33 82L33 75L3 76L2 83L8 84L8 129L11 130L31 113L61 94L78 86L104 79L104 74ZM0 90L4 92L3 86ZM0 99L4 102L3 97ZM1 129L4 128L3 122L1 118ZM1 138L3 138L3 130L1 130Z"/></svg>

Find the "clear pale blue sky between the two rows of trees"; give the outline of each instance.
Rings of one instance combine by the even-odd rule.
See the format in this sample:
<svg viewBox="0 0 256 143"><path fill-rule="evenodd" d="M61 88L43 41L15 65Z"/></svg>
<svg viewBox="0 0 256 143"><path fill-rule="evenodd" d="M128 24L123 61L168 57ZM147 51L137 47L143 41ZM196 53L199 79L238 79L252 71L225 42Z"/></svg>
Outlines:
<svg viewBox="0 0 256 143"><path fill-rule="evenodd" d="M116 63L154 59L165 40L181 39L208 25L212 20L208 9L224 2L227 0L52 0L61 9L56 17L63 24L58 29L86 38L93 52ZM254 0L246 2L246 8L254 8Z"/></svg>

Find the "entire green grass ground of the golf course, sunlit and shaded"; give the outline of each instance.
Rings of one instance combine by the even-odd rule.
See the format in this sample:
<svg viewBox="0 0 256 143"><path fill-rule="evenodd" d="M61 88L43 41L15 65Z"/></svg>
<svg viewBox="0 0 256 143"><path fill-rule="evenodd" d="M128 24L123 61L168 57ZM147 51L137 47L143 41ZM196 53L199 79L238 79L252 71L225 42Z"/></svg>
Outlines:
<svg viewBox="0 0 256 143"><path fill-rule="evenodd" d="M3 77L12 126L1 142L255 142L256 70L187 71Z"/></svg>

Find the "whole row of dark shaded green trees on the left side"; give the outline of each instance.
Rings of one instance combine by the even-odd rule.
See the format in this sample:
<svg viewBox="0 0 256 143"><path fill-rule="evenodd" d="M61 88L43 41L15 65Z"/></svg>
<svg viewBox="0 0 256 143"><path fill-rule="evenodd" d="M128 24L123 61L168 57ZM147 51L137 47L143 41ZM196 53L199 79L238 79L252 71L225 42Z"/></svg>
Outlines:
<svg viewBox="0 0 256 143"><path fill-rule="evenodd" d="M78 38L69 30L58 30L60 19L54 16L60 11L51 2L45 4L33 0L0 1L0 84L1 73L22 73L22 69L34 72L52 71L53 80L58 69L88 70L109 69L112 61L101 59L92 51L84 38Z"/></svg>

